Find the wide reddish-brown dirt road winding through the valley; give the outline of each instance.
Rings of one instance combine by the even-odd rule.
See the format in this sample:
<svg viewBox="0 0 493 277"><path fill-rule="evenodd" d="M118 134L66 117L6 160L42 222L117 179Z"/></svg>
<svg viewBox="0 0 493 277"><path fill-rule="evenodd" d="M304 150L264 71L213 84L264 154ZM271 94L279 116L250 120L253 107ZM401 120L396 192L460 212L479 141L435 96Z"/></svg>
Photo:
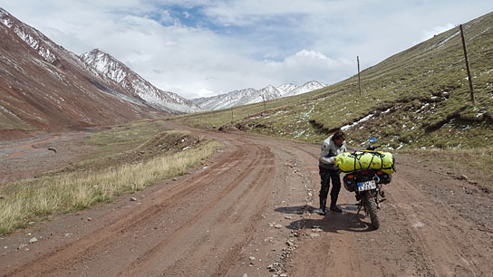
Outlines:
<svg viewBox="0 0 493 277"><path fill-rule="evenodd" d="M226 148L190 175L0 238L1 275L492 276L492 196L468 180L398 156L374 231L344 189L311 213L318 146L204 135Z"/></svg>

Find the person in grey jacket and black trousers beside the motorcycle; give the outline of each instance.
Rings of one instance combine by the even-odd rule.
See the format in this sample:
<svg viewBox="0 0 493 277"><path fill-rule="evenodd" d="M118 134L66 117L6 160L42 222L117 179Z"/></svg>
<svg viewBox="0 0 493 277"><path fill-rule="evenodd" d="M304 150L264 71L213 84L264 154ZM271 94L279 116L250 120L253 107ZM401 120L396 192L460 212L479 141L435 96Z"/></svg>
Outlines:
<svg viewBox="0 0 493 277"><path fill-rule="evenodd" d="M322 153L318 161L321 187L318 194L320 200L320 215L326 215L327 195L329 193L330 180L332 180L330 210L342 213L343 210L337 204L337 197L341 190L341 177L339 168L335 165L335 156L346 151L346 135L343 130L338 129L322 142Z"/></svg>

